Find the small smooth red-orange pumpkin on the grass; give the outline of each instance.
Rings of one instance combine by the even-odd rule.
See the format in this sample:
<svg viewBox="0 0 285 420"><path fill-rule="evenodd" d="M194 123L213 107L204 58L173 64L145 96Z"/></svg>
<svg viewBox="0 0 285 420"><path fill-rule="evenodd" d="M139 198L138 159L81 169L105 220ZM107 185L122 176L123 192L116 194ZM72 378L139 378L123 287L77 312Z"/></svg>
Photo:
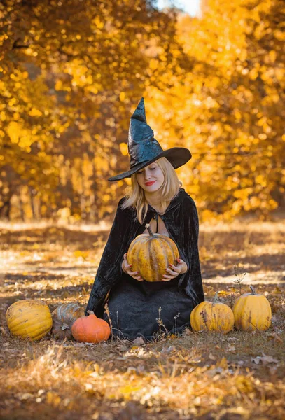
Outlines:
<svg viewBox="0 0 285 420"><path fill-rule="evenodd" d="M71 327L71 333L78 342L99 343L109 339L111 330L109 323L97 318L93 311L88 316L76 319Z"/></svg>

